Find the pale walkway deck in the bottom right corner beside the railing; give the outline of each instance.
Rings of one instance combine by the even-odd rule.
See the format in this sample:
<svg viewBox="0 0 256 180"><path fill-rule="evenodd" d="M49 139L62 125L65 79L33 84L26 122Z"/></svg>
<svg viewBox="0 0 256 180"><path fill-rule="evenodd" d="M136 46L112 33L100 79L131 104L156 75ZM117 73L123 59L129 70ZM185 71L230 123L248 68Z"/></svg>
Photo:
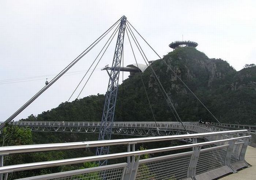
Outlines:
<svg viewBox="0 0 256 180"><path fill-rule="evenodd" d="M245 154L245 160L251 165L237 173L221 178L221 180L255 180L256 179L256 148L248 146Z"/></svg>

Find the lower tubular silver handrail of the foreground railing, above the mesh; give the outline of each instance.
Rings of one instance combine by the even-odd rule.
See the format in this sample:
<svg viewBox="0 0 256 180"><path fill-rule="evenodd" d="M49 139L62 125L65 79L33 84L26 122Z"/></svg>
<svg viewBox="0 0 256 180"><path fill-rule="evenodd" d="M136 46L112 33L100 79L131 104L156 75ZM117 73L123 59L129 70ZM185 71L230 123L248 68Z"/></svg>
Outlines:
<svg viewBox="0 0 256 180"><path fill-rule="evenodd" d="M55 166L61 166L61 165L85 163L85 162L90 162L90 161L100 161L100 160L106 160L106 159L116 159L116 158L122 158L122 157L128 157L128 156L140 156L143 154L152 154L152 153L166 152L166 151L171 151L171 150L187 149L187 148L193 148L196 146L217 144L219 142L235 141L235 140L251 138L251 137L252 136L242 136L242 137L235 137L235 138L229 138L229 139L224 139L224 140L200 142L200 143L195 143L195 144L179 145L179 146L157 148L157 149L147 149L147 150L139 150L139 151L132 151L132 152L124 152L124 153L114 153L114 154L106 154L106 155L99 155L99 156L79 157L79 158L54 160L54 161L44 161L44 162L37 162L37 163L8 165L8 166L0 167L0 173L25 171L25 170L38 169L38 168L48 168L48 167L55 167Z"/></svg>

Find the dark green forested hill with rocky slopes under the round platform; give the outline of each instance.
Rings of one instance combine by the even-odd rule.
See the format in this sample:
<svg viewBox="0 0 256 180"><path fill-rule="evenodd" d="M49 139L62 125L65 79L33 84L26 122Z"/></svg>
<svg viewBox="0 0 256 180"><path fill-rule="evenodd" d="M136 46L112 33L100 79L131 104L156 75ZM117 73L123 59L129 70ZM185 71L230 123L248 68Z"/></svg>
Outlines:
<svg viewBox="0 0 256 180"><path fill-rule="evenodd" d="M222 59L209 59L192 47L177 48L163 57L220 122L256 124L256 67L236 71ZM155 70L182 121L214 122L161 60ZM175 121L153 75L147 69L143 81L157 121ZM97 93L97 92L95 92ZM115 121L153 121L140 75L126 79L118 89ZM29 116L26 121L101 121L104 95L91 95L76 102ZM74 104L74 105L73 105Z"/></svg>

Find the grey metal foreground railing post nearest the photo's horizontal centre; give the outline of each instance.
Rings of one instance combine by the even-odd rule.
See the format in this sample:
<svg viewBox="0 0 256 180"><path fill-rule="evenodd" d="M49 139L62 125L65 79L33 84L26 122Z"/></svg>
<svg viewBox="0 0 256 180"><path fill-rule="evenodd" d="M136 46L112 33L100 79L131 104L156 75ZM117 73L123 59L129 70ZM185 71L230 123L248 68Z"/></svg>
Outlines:
<svg viewBox="0 0 256 180"><path fill-rule="evenodd" d="M131 151L131 145L132 145L132 151L135 151L135 144L128 144L127 146L128 152ZM131 156L127 157L128 167L124 170L125 175L122 180L135 180L138 167L139 167L139 159L140 159L140 156L132 156L132 158Z"/></svg>

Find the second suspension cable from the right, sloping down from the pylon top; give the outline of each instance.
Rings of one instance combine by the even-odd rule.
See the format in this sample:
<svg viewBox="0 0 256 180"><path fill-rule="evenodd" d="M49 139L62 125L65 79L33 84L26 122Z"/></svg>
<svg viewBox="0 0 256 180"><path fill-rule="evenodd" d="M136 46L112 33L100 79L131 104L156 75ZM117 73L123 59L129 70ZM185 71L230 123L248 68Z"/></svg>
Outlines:
<svg viewBox="0 0 256 180"><path fill-rule="evenodd" d="M129 25L128 25L128 27L129 27ZM127 28L127 29L128 29L128 31L130 32L129 28ZM131 31L131 32L132 32L132 31ZM130 32L130 34L131 34L131 32ZM131 34L131 35L132 35L132 34ZM133 35L134 35L134 34L133 34ZM132 38L133 38L133 36L132 36ZM134 36L134 38L136 39L135 36ZM134 39L133 39L133 40L134 40ZM136 39L136 41L138 42L137 39ZM135 42L135 40L134 40L134 42ZM136 44L136 42L135 42L135 44ZM139 43L138 43L138 44L139 44ZM137 45L137 44L136 44L136 45ZM137 47L138 47L138 46L137 46ZM139 47L141 48L140 44L139 44ZM139 48L139 47L138 47L138 48ZM141 50L142 50L142 48L141 48ZM142 52L143 52L143 54L144 54L144 51L143 51L143 50L142 50ZM144 56L145 56L145 58L147 59L147 57L146 57L145 54L144 54ZM148 59L147 59L147 62L148 62L148 64L149 64ZM155 74L155 71L154 71L153 67L152 67L152 66L149 66L149 67L150 67L151 70L153 71L153 75L156 77L156 79L157 79L159 85L161 86L161 89L162 89L162 91L163 91L164 96L168 99L167 104L169 105L169 107L170 107L170 104L172 105L172 108L173 108L173 110L174 110L174 113L176 114L176 116L177 116L178 120L180 121L181 125L183 126L184 130L188 133L188 131L187 131L187 129L185 128L184 124L182 123L181 118L180 118L180 116L178 115L178 113L177 113L177 111L176 111L176 109L175 109L175 107L174 107L172 101L170 100L169 96L167 95L165 89L164 89L163 86L162 86L162 83L160 82L159 78L157 77L157 74ZM170 107L171 110L172 110L172 108ZM174 115L174 116L175 116L175 115ZM175 116L175 117L176 117L176 116ZM176 118L176 120L177 120L177 118Z"/></svg>

